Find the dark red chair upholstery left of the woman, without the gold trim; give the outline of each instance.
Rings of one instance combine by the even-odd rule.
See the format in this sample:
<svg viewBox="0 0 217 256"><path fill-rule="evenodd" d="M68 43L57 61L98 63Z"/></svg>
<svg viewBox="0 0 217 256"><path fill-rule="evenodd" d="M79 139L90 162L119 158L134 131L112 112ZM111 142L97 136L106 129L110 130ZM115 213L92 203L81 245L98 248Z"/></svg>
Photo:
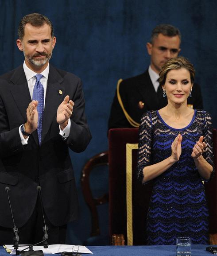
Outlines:
<svg viewBox="0 0 217 256"><path fill-rule="evenodd" d="M109 130L109 228L112 234L127 235L126 144L138 144L138 128ZM132 150L132 230L133 244L146 240L146 215L152 184L143 186L136 177L137 150Z"/></svg>

